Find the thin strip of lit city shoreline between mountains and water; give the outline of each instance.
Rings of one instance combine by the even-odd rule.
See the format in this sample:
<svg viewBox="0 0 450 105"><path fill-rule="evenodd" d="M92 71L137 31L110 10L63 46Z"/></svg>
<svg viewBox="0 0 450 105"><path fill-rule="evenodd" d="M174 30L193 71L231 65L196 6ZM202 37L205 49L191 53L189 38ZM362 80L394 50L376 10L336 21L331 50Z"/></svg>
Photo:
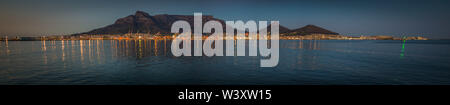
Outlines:
<svg viewBox="0 0 450 105"><path fill-rule="evenodd" d="M150 34L124 34L124 35L60 35L60 36L40 36L40 37L13 37L8 38L3 36L0 41L43 41L43 40L172 40L176 37L174 35L150 35ZM202 36L203 40L206 40L208 36ZM246 39L252 40L246 34L246 37L234 37L234 40ZM258 38L259 39L259 38ZM270 39L270 38L268 38ZM330 35L330 34L311 34L311 35L283 35L279 36L281 40L438 40L429 39L420 36L409 37L393 37L387 35L375 35L375 36L344 36L344 35ZM192 38L192 40L194 40ZM226 39L224 39L226 40Z"/></svg>

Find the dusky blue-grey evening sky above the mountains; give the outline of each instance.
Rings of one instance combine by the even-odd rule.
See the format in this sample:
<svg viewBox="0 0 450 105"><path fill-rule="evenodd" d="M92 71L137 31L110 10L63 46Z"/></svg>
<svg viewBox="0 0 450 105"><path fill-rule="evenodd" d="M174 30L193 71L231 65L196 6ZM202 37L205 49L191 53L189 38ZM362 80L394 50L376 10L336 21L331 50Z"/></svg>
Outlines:
<svg viewBox="0 0 450 105"><path fill-rule="evenodd" d="M342 35L450 38L449 0L1 0L0 36L90 31L137 10L237 21L317 25Z"/></svg>

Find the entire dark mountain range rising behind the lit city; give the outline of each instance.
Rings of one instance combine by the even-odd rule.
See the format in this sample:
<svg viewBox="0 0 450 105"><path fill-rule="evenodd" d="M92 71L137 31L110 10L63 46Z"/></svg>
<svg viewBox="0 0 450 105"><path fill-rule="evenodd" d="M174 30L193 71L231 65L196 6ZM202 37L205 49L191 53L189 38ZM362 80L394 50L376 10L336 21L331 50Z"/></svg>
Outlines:
<svg viewBox="0 0 450 105"><path fill-rule="evenodd" d="M82 35L82 34L126 34L126 33L161 33L161 34L170 34L171 25L178 20L187 21L191 27L194 25L194 16L193 15L167 15L160 14L151 16L150 14L143 11L136 11L134 15L129 15L127 17L123 17L117 19L114 24L94 29L89 32L74 34L74 35ZM221 19L214 18L213 16L204 15L202 17L202 23L206 23L207 21L219 21L222 25L225 25L225 21ZM223 26L225 31L225 26ZM193 28L192 28L193 29ZM267 30L270 31L270 25L267 27ZM192 31L193 32L193 31ZM315 25L306 25L304 27L298 29L288 29L284 26L279 27L279 32L281 35L309 35L309 34L331 34L338 35L338 33L315 26Z"/></svg>

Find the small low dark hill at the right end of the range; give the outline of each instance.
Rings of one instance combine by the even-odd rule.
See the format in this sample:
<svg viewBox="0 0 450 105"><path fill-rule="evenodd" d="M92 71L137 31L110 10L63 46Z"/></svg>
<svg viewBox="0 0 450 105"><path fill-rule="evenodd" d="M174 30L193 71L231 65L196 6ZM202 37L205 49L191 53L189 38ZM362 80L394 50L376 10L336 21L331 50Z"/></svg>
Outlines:
<svg viewBox="0 0 450 105"><path fill-rule="evenodd" d="M281 29L280 29L281 30ZM339 33L318 27L315 25L306 25L302 28L291 30L287 33L288 35L310 35L310 34L330 34L339 35Z"/></svg>

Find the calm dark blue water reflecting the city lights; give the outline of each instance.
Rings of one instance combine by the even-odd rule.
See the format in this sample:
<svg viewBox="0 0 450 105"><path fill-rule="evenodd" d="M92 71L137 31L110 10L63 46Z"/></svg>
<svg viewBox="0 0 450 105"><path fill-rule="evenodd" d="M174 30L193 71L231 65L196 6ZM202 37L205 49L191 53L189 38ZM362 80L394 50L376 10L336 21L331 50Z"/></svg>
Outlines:
<svg viewBox="0 0 450 105"><path fill-rule="evenodd" d="M170 45L1 42L0 85L450 85L450 41L280 40L274 68L261 57L174 57Z"/></svg>

